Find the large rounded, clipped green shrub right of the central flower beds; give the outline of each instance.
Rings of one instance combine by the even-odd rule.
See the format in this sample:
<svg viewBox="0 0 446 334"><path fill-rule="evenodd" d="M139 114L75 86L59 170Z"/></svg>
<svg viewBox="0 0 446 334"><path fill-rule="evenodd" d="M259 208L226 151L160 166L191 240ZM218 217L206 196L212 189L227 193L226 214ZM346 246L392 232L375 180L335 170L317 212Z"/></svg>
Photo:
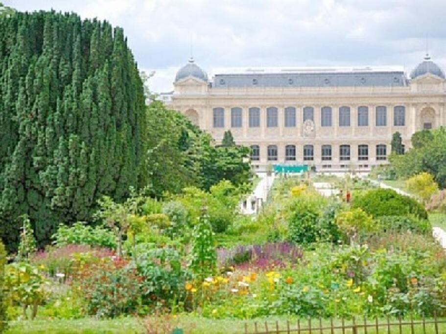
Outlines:
<svg viewBox="0 0 446 334"><path fill-rule="evenodd" d="M423 205L392 189L373 189L353 199L353 208L361 208L373 217L414 215L427 219Z"/></svg>

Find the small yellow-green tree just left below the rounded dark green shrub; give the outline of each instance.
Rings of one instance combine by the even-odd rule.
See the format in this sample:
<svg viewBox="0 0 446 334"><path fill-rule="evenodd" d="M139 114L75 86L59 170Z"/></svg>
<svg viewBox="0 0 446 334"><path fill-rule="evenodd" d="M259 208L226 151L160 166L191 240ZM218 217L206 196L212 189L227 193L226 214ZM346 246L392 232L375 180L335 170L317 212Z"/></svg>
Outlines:
<svg viewBox="0 0 446 334"><path fill-rule="evenodd" d="M376 229L372 216L364 212L361 208L354 208L337 213L336 223L349 237L351 244L356 242L361 235Z"/></svg>

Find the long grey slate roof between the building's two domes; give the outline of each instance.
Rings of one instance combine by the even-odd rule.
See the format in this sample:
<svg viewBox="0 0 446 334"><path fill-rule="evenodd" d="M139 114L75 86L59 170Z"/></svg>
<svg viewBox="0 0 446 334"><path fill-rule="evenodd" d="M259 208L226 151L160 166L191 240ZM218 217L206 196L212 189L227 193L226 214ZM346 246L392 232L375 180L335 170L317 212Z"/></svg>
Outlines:
<svg viewBox="0 0 446 334"><path fill-rule="evenodd" d="M212 87L407 86L403 71L216 74Z"/></svg>

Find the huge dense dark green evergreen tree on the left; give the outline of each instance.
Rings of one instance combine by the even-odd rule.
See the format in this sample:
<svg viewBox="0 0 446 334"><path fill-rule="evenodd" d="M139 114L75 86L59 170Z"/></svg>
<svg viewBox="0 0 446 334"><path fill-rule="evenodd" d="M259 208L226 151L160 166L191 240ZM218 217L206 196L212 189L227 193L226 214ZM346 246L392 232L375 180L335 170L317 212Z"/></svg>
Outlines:
<svg viewBox="0 0 446 334"><path fill-rule="evenodd" d="M123 31L75 14L0 18L0 233L27 214L39 245L102 195L146 184L141 79Z"/></svg>

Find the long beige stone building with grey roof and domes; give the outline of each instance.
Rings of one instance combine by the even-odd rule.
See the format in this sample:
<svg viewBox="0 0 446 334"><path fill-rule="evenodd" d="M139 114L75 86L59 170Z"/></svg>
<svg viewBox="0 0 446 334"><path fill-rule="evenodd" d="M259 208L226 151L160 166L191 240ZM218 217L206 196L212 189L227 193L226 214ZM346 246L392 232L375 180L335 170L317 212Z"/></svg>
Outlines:
<svg viewBox="0 0 446 334"><path fill-rule="evenodd" d="M258 169L369 170L386 162L393 133L408 148L414 132L446 125L445 83L428 55L410 76L402 67L263 68L209 79L190 59L167 103L217 142L231 130Z"/></svg>

